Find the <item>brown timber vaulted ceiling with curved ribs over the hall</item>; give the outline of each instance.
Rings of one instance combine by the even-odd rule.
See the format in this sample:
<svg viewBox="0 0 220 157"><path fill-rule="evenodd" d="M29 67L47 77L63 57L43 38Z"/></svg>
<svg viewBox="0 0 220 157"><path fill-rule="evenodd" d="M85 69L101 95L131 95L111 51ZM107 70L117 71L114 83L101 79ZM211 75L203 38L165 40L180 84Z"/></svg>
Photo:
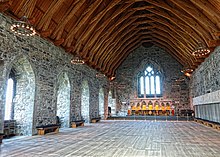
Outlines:
<svg viewBox="0 0 220 157"><path fill-rule="evenodd" d="M203 60L192 51L220 44L220 0L1 0L0 10L27 16L38 33L113 76L135 48L151 43L183 66Z"/></svg>

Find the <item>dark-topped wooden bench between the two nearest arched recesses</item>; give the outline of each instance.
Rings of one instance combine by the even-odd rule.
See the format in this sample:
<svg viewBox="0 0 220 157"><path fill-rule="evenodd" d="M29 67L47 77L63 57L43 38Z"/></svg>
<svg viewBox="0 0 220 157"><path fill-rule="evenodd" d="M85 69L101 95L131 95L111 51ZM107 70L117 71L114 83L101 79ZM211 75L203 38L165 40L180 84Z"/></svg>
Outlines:
<svg viewBox="0 0 220 157"><path fill-rule="evenodd" d="M59 132L59 124L49 124L49 125L41 125L37 126L37 134L38 135L45 135L47 133L58 133Z"/></svg>

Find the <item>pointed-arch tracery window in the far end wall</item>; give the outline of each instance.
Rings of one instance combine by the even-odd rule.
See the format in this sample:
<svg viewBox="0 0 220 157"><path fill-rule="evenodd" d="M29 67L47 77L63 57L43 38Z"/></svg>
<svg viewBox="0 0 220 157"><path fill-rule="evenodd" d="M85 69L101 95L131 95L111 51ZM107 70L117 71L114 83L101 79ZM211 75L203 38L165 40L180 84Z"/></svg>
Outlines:
<svg viewBox="0 0 220 157"><path fill-rule="evenodd" d="M138 74L138 97L161 97L162 96L162 79L158 69L149 65Z"/></svg>

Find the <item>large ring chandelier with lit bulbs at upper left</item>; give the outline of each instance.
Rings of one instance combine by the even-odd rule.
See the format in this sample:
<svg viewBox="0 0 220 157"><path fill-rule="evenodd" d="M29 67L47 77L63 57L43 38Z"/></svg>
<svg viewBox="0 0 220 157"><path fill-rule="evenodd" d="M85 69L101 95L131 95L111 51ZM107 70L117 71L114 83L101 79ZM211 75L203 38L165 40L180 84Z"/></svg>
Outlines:
<svg viewBox="0 0 220 157"><path fill-rule="evenodd" d="M23 16L19 21L16 21L11 26L12 32L21 36L33 36L36 34L36 30L30 24L28 18Z"/></svg>

